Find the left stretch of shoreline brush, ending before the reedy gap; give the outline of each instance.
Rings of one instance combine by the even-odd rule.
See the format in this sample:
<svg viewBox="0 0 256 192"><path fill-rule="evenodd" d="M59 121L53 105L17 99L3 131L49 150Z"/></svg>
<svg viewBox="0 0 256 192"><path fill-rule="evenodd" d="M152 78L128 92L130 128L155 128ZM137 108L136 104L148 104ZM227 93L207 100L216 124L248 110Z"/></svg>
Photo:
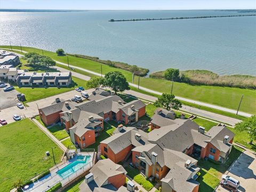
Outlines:
<svg viewBox="0 0 256 192"><path fill-rule="evenodd" d="M103 63L105 65L108 65L110 67L115 67L115 68L131 71L131 72L134 72L135 75L139 75L139 76L146 76L147 73L149 72L149 69L145 69L145 68L142 68L142 67L137 67L135 65L129 65L129 64L124 63L124 62L101 60L98 57L90 57L90 56L81 55L81 54L68 54L68 55L78 57L78 58L89 59L89 60L92 60L92 61L97 61L97 62Z"/></svg>

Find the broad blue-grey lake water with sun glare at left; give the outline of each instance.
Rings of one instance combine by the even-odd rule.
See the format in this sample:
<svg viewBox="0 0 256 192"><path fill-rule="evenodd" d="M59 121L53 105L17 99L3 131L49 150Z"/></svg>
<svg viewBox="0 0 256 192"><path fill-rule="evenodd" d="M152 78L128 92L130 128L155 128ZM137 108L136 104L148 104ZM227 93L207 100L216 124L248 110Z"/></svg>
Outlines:
<svg viewBox="0 0 256 192"><path fill-rule="evenodd" d="M123 61L150 69L256 75L256 17L108 22L237 15L231 11L0 12L0 44Z"/></svg>

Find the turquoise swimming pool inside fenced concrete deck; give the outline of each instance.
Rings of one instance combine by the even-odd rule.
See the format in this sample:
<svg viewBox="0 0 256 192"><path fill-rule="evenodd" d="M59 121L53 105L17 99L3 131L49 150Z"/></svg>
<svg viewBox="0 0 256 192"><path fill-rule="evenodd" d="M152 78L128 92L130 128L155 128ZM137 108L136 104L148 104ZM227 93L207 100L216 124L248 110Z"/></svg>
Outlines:
<svg viewBox="0 0 256 192"><path fill-rule="evenodd" d="M81 169L83 166L85 166L89 160L90 160L91 156L82 156L79 155L77 156L77 160L68 164L67 166L63 167L61 170L57 171L58 175L60 175L60 177L62 179L67 178L69 175L75 173L77 170Z"/></svg>

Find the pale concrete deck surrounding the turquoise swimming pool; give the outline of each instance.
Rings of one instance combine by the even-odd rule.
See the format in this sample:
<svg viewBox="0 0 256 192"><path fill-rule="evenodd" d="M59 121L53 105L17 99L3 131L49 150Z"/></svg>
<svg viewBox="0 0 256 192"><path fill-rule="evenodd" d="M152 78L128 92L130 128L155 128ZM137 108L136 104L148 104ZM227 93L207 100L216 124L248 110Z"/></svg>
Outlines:
<svg viewBox="0 0 256 192"><path fill-rule="evenodd" d="M61 170L63 167L66 167L67 165L69 165L70 163L77 161L77 155L74 158L69 159L67 163L62 164L61 166L52 170L50 174L47 174L45 175L45 177L39 179L38 181L31 183L29 185L29 188L26 190L23 189L23 191L45 191L50 189L52 186L56 185L58 182L61 182L63 186L66 183L68 183L70 180L76 178L77 175L82 174L83 172L85 172L86 170L90 169L93 166L93 162L94 162L93 158L95 158L94 153L81 153L81 154L85 156L90 156L89 161L87 161L86 164L83 167L81 167L79 170L70 174L69 177L63 179L60 177L60 175L57 172Z"/></svg>

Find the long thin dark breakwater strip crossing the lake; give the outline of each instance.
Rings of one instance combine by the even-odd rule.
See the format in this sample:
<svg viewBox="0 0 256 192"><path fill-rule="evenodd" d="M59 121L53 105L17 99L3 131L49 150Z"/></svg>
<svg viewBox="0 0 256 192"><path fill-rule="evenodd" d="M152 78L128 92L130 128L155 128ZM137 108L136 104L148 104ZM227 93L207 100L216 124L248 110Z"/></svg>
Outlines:
<svg viewBox="0 0 256 192"><path fill-rule="evenodd" d="M155 20L176 20L176 19L205 19L205 18L223 18L223 17L246 17L256 16L256 14L243 14L243 15L220 15L220 16L201 16L201 17L172 17L172 18L147 18L147 19L110 19L109 22L120 21L155 21Z"/></svg>

